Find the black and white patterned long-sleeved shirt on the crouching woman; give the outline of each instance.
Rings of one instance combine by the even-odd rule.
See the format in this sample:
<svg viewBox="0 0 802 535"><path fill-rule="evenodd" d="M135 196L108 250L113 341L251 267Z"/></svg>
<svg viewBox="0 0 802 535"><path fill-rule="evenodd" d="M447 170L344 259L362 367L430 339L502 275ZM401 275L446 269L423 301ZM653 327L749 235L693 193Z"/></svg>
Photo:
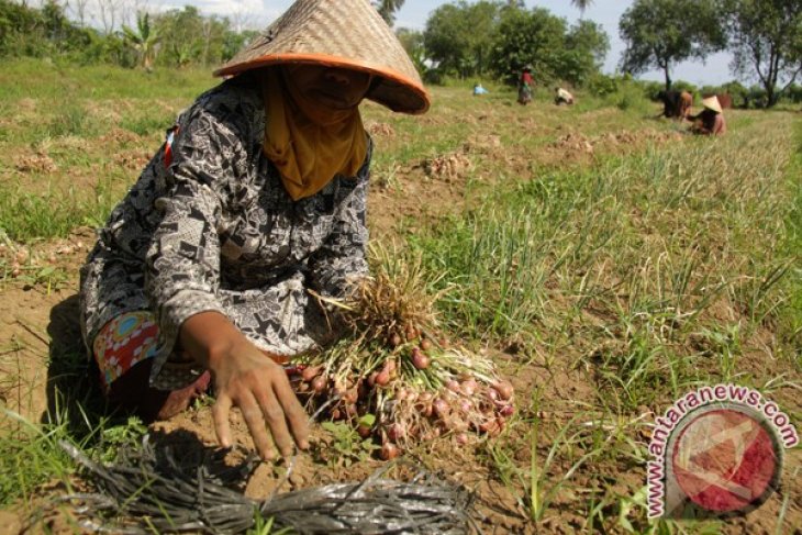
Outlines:
<svg viewBox="0 0 802 535"><path fill-rule="evenodd" d="M81 328L151 310L159 326L152 384L177 388L201 370L179 365L180 325L225 314L259 348L296 355L331 333L307 289L341 297L367 274L365 201L372 143L355 177L292 201L263 155L265 107L256 78L207 91L112 211L81 269ZM367 134L366 134L367 135ZM176 366L165 366L167 361Z"/></svg>

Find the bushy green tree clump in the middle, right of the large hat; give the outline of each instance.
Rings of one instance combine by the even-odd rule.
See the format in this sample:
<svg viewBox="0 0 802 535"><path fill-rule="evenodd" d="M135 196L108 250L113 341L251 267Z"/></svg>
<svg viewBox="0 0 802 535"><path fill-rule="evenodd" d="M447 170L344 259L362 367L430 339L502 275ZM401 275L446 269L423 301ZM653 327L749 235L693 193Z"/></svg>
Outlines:
<svg viewBox="0 0 802 535"><path fill-rule="evenodd" d="M514 82L531 65L538 80L580 86L601 69L610 37L592 21L568 25L522 1L457 1L432 11L425 30L399 31L419 68L432 80L489 77Z"/></svg>

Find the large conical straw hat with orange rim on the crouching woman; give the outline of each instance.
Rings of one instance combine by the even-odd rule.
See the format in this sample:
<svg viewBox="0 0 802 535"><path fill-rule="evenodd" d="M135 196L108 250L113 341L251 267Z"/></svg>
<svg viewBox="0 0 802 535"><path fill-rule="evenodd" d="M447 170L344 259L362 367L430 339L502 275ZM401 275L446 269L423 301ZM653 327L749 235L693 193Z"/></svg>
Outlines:
<svg viewBox="0 0 802 535"><path fill-rule="evenodd" d="M297 0L214 74L235 75L288 63L369 73L381 77L369 99L404 113L428 109L430 97L417 69L369 0Z"/></svg>

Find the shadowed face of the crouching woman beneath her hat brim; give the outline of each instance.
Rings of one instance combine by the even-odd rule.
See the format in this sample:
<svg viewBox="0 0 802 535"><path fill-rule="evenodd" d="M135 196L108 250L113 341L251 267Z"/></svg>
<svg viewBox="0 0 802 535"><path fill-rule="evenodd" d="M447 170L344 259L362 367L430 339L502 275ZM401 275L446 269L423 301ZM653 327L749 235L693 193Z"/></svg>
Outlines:
<svg viewBox="0 0 802 535"><path fill-rule="evenodd" d="M335 110L354 108L370 87L370 75L322 65L288 65L287 76L305 99Z"/></svg>

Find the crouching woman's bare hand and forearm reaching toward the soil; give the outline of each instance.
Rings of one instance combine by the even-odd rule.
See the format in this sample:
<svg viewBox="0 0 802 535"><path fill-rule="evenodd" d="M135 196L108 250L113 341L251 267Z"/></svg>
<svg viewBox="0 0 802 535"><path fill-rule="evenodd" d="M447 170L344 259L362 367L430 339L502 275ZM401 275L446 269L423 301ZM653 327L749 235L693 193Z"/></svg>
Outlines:
<svg viewBox="0 0 802 535"><path fill-rule="evenodd" d="M283 368L252 344L234 324L218 312L201 312L181 326L181 344L214 380L212 409L218 441L231 446L229 414L238 406L259 456L271 459L272 443L282 456L292 454L293 442L309 447L309 417L298 401Z"/></svg>

